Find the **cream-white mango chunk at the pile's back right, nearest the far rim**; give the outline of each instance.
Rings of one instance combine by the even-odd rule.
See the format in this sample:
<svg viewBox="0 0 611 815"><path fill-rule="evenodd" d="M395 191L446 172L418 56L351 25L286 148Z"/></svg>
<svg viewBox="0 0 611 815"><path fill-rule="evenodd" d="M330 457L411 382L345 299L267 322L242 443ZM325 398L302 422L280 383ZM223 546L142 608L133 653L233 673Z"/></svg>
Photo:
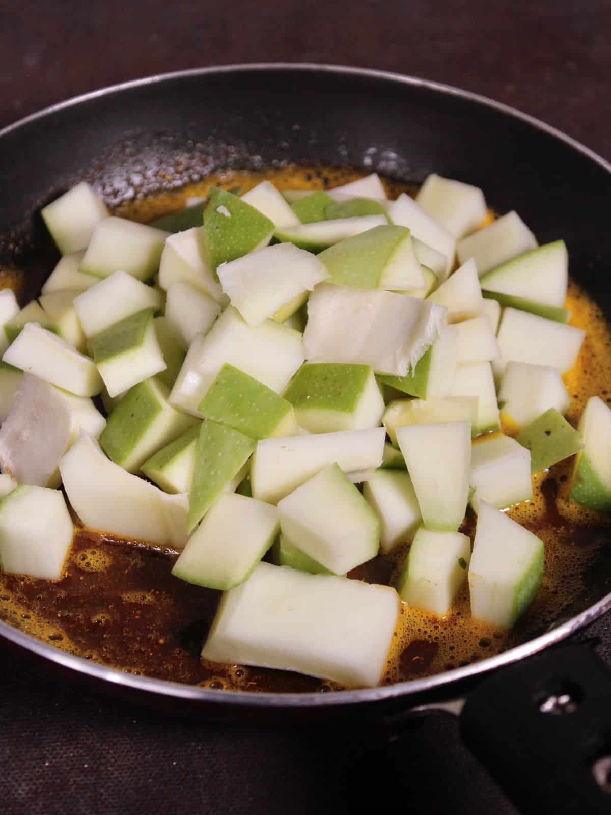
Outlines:
<svg viewBox="0 0 611 815"><path fill-rule="evenodd" d="M446 227L457 240L475 231L486 216L486 199L479 187L431 173L424 180L416 203Z"/></svg>

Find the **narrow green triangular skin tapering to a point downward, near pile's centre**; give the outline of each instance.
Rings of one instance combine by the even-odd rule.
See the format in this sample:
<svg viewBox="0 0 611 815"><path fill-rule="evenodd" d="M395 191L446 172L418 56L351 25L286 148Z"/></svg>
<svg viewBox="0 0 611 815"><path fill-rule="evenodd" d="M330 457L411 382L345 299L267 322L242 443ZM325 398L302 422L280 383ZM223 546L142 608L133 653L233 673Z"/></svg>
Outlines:
<svg viewBox="0 0 611 815"><path fill-rule="evenodd" d="M226 483L253 455L257 443L243 433L204 419L196 443L196 465L189 496L189 533L208 512Z"/></svg>

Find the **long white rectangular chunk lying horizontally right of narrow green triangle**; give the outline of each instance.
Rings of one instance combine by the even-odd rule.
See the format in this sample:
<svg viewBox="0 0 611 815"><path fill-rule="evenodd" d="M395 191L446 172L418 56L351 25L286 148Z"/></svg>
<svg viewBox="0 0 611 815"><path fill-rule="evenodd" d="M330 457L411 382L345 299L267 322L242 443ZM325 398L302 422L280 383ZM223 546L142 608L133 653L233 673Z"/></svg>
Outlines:
<svg viewBox="0 0 611 815"><path fill-rule="evenodd" d="M250 469L253 497L275 504L333 462L346 474L364 478L363 471L380 467L384 440L383 427L264 438L257 443Z"/></svg>

